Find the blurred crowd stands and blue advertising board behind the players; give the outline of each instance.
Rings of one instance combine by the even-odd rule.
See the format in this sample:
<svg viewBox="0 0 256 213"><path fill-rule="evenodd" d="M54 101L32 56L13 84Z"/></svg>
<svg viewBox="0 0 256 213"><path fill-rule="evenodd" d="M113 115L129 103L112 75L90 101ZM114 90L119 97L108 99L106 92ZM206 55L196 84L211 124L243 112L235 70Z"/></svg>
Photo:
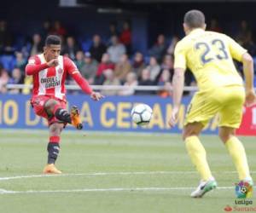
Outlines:
<svg viewBox="0 0 256 213"><path fill-rule="evenodd" d="M0 127L45 128L27 102L32 77L25 76L24 68L30 55L42 51L48 34L62 37L61 54L74 60L93 88L107 96L92 112L88 98L72 79L67 80L68 100L84 107L89 130L143 131L132 127L129 117L133 104L141 101L156 114L146 131L170 131L166 119L172 101L173 50L184 36L183 14L189 9L201 9L208 30L234 37L256 59L253 1L63 0L34 4L4 1L1 5ZM236 66L241 72L241 64ZM185 108L196 89L191 72L186 72L185 81L183 111L174 132L182 129ZM246 112L246 135L254 134L254 112ZM216 132L215 120L207 133Z"/></svg>

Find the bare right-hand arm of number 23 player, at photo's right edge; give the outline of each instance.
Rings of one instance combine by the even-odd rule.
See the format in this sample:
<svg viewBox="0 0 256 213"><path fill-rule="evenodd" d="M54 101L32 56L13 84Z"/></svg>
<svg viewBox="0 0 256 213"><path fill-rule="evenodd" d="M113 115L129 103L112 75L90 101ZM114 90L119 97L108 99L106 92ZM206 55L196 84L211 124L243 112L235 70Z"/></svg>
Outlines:
<svg viewBox="0 0 256 213"><path fill-rule="evenodd" d="M243 65L243 73L245 76L245 89L246 89L246 105L250 106L256 101L256 96L253 88L253 58L248 53L241 56Z"/></svg>

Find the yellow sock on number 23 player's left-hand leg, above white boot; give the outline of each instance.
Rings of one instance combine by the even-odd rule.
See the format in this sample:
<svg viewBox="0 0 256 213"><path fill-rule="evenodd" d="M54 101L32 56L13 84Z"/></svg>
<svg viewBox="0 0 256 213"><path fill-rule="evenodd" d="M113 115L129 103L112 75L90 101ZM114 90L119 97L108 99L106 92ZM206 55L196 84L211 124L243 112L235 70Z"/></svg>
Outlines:
<svg viewBox="0 0 256 213"><path fill-rule="evenodd" d="M186 138L185 143L189 156L200 173L201 179L207 181L212 176L212 172L207 163L207 153L201 145L201 141L197 136L189 136Z"/></svg>

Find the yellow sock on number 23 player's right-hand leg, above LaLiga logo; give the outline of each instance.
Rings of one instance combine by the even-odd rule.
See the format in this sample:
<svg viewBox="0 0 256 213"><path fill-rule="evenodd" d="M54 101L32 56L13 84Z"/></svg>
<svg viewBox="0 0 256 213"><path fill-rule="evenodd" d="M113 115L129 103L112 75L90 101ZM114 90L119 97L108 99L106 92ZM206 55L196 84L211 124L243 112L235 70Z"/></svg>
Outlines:
<svg viewBox="0 0 256 213"><path fill-rule="evenodd" d="M236 165L239 179L243 180L246 177L249 177L250 171L247 163L247 154L245 153L241 141L236 137L231 137L226 141L225 146L228 148L233 162Z"/></svg>

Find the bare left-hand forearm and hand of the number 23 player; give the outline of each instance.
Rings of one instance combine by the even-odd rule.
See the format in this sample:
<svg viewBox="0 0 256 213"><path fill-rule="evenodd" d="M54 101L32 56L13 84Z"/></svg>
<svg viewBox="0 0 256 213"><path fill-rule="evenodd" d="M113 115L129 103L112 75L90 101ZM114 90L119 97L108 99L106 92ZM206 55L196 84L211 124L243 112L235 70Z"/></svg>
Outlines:
<svg viewBox="0 0 256 213"><path fill-rule="evenodd" d="M183 87L184 87L184 73L183 68L175 68L174 75L172 78L172 117L169 120L169 125L173 127L177 123L177 113L180 107L181 99L183 96Z"/></svg>

